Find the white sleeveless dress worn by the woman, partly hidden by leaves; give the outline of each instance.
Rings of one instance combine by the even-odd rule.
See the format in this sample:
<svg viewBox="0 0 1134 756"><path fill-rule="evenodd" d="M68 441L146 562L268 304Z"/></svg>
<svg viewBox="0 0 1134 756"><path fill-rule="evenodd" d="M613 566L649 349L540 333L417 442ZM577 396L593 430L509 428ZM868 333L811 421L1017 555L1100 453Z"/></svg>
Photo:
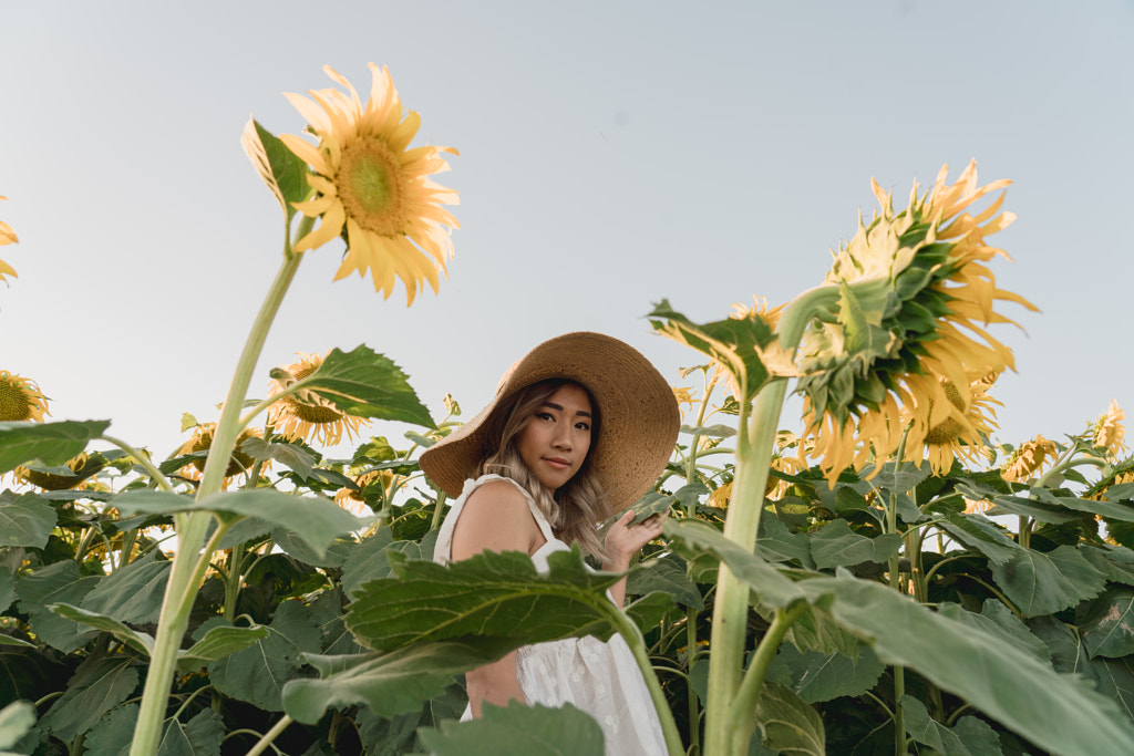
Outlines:
<svg viewBox="0 0 1134 756"><path fill-rule="evenodd" d="M532 495L515 481L499 475L465 481L464 491L441 525L434 561L442 564L451 561L457 518L473 491L489 481L508 481L527 499L532 517L547 538L532 554L532 562L536 570L547 572L548 554L570 547L551 532ZM620 635L615 634L606 643L587 636L523 646L516 654L516 674L530 704L551 707L572 704L593 716L602 728L607 756L666 756L666 739L650 690ZM472 710L466 708L460 719L471 717Z"/></svg>

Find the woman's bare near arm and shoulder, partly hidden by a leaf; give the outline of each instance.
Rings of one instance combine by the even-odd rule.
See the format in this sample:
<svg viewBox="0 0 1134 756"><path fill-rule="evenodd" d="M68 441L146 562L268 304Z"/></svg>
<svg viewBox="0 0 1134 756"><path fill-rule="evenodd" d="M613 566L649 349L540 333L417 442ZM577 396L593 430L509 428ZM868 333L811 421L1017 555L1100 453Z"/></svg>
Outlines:
<svg viewBox="0 0 1134 756"><path fill-rule="evenodd" d="M468 496L452 532L452 559L468 559L484 551L522 551L531 554L544 541L527 500L503 481L486 483ZM516 676L516 652L465 674L473 716L480 719L484 702L505 706L515 698L527 703Z"/></svg>

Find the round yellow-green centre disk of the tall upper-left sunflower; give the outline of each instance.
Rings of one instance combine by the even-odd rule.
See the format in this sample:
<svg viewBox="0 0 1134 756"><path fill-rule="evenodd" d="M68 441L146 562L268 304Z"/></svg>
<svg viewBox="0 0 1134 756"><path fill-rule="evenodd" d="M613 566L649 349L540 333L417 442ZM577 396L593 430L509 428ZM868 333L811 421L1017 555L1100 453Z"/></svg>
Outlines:
<svg viewBox="0 0 1134 756"><path fill-rule="evenodd" d="M367 231L404 231L401 167L379 139L359 139L342 151L335 184L347 212Z"/></svg>

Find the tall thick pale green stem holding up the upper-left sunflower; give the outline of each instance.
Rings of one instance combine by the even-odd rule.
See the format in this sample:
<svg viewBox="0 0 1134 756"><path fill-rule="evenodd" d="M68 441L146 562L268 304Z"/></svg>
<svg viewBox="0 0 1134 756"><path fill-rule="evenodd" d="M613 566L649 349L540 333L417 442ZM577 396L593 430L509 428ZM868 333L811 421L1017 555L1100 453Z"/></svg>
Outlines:
<svg viewBox="0 0 1134 756"><path fill-rule="evenodd" d="M304 216L299 222L298 237L303 238L314 219ZM271 329L276 313L279 312L284 295L295 279L295 273L303 261L302 253L285 246L284 262L276 280L268 290L268 296L260 307L260 313L252 325L244 351L237 363L232 382L225 398L220 421L213 431L212 445L205 460L204 474L197 487L197 501L217 493L221 489L229 458L236 447L239 433L240 407L247 396L248 384L255 371L260 352L263 350L268 331ZM161 725L166 719L170 687L174 682L174 670L177 664L177 651L189 622L189 611L201 587L201 577L211 561L211 551L202 553L205 534L209 528L210 512L196 511L191 515L179 513L175 518L178 535L177 554L166 583L166 596L162 600L161 615L158 620L158 637L154 639L153 654L150 659L150 670L146 673L145 688L142 693L142 706L138 711L137 728L130 744L130 756L153 756L158 753L161 738ZM226 528L218 527L217 532ZM209 545L217 543L215 537Z"/></svg>

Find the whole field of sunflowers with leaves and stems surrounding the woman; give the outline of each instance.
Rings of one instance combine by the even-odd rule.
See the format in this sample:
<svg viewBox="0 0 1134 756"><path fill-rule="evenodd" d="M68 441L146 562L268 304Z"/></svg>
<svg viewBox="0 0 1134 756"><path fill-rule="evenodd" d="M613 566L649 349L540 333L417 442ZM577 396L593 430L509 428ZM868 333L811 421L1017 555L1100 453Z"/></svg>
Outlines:
<svg viewBox="0 0 1134 756"><path fill-rule="evenodd" d="M456 193L429 178L452 151L409 147L418 119L384 69L366 101L328 74L342 90L290 95L314 142L244 134L285 253L215 422L186 416L156 459L108 421L51 418L0 369L0 753L602 754L572 707L458 722L462 681L616 632L670 756L1134 753L1125 416L991 441L1013 356L990 329L1031 307L990 267L1007 181L942 169L900 209L875 186L827 279L784 305L709 323L654 305L694 366L635 504L668 512L665 536L623 611L619 576L578 550L545 575L521 553L432 562L447 501L417 455L462 409L432 417L390 357L254 375L307 252L345 238L338 277L387 297L400 280L412 303L452 250ZM782 416L789 388L802 418Z"/></svg>

